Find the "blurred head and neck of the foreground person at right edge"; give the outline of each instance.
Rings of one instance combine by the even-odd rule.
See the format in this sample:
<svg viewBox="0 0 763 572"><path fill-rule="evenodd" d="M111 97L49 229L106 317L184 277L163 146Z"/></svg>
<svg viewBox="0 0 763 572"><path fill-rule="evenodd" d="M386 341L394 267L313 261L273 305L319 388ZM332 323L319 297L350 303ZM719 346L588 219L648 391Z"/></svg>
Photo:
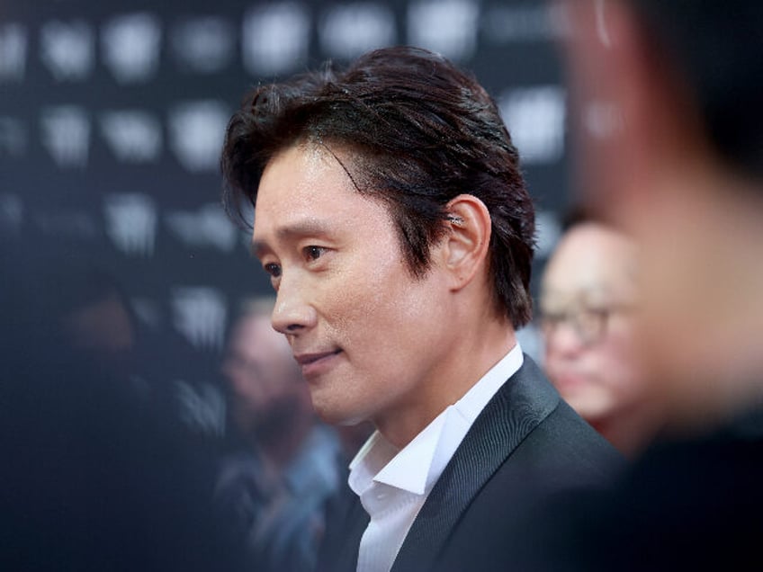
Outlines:
<svg viewBox="0 0 763 572"><path fill-rule="evenodd" d="M562 2L579 175L640 247L637 339L681 425L759 402L763 4Z"/></svg>

